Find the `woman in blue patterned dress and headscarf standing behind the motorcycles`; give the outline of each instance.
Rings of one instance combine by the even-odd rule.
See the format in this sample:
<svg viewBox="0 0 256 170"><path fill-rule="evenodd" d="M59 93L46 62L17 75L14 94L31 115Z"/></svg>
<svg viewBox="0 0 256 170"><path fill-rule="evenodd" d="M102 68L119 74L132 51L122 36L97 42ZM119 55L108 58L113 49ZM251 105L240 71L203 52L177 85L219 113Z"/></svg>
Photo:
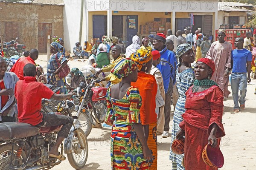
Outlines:
<svg viewBox="0 0 256 170"><path fill-rule="evenodd" d="M66 88L64 86L63 79L58 77L58 72L67 65L67 59L64 57L60 49L63 48L58 42L52 42L50 45L51 57L48 61L47 65L47 84L54 85L55 87L60 87L60 94L66 94ZM61 66L58 67L58 63L56 61L56 56L59 62L61 62Z"/></svg>

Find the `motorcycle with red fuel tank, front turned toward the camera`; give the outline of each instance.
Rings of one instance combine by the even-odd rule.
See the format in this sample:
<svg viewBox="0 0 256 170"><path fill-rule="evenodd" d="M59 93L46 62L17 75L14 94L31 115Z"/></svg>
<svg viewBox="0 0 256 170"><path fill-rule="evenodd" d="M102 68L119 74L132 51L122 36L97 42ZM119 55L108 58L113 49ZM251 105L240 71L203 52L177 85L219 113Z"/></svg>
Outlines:
<svg viewBox="0 0 256 170"><path fill-rule="evenodd" d="M92 130L92 125L95 123L104 123L105 115L107 113L106 93L107 88L95 86L99 82L95 74L87 76L87 85L81 82L79 87L74 91L77 93L76 100L74 101L79 105L77 113L80 112L83 117L78 117L81 125L85 126L84 133L88 136ZM85 116L85 117L84 117Z"/></svg>

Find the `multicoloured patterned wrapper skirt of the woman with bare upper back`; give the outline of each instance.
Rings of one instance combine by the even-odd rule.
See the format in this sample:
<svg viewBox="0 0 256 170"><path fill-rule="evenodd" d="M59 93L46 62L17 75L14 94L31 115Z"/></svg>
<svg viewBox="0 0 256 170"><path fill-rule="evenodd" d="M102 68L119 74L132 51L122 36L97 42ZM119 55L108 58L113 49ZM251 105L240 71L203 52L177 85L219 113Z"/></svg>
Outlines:
<svg viewBox="0 0 256 170"><path fill-rule="evenodd" d="M148 170L143 147L132 125L113 125L111 132L112 170Z"/></svg>

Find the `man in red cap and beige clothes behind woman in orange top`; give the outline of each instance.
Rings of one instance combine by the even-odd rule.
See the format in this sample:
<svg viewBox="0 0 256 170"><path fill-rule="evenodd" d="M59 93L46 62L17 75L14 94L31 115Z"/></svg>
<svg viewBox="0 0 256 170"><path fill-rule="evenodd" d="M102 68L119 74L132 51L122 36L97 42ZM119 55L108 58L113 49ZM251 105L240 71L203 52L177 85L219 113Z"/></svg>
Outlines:
<svg viewBox="0 0 256 170"><path fill-rule="evenodd" d="M160 70L156 67L161 61L161 55L159 51L154 50L151 53L153 55L153 66L150 70L150 74L156 78L157 81L157 95L156 95L156 113L157 113L157 133L163 133L164 127L164 100L165 92L163 87L163 78Z"/></svg>

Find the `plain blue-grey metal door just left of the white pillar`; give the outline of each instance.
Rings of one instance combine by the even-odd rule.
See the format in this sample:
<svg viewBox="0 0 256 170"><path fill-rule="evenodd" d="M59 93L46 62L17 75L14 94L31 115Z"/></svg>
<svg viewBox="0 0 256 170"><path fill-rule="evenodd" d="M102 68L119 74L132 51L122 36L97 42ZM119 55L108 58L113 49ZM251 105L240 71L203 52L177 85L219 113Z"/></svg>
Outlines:
<svg viewBox="0 0 256 170"><path fill-rule="evenodd" d="M107 35L107 15L93 15L93 38Z"/></svg>

